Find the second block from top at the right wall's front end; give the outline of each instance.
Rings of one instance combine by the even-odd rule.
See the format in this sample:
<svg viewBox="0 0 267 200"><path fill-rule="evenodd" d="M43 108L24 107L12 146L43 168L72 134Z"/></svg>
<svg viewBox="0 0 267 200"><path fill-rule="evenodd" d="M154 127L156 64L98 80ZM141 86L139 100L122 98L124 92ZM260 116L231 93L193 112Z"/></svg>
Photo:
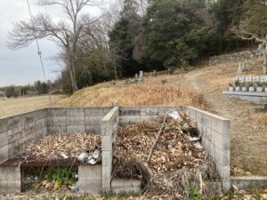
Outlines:
<svg viewBox="0 0 267 200"><path fill-rule="evenodd" d="M219 132L212 131L212 143L217 148L220 148L222 150L229 150L230 149L230 141L231 137L229 134L221 134Z"/></svg>

